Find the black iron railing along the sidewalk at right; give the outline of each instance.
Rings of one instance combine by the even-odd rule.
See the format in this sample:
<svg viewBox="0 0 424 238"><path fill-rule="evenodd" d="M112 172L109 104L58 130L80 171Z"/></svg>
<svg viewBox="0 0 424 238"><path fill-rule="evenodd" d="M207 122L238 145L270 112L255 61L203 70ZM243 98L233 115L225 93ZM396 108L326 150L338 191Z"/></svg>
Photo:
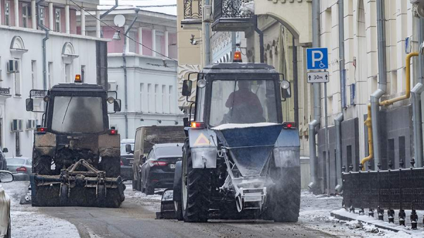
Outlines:
<svg viewBox="0 0 424 238"><path fill-rule="evenodd" d="M399 162L399 169L345 172L343 166L343 207L355 212L359 208L359 215L365 215L364 208L368 208L368 215L374 217L377 210L379 220L384 220L384 210L387 210L389 222L394 222L394 210L399 210L399 225L405 225L405 210L411 210L410 220L412 229L417 229L418 215L416 210L424 210L424 168L414 167L415 161L411 160L411 167L404 168L404 162Z"/></svg>

